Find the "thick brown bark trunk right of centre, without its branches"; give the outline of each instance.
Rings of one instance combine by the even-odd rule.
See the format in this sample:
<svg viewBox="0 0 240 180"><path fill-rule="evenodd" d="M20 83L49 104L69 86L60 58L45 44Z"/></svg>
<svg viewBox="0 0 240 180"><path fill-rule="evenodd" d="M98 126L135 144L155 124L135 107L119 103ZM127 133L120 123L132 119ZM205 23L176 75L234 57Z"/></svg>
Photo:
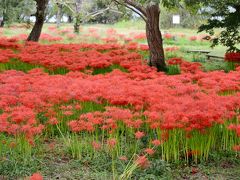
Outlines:
<svg viewBox="0 0 240 180"><path fill-rule="evenodd" d="M159 28L160 8L159 4L150 4L146 8L146 35L150 51L150 66L154 66L158 71L166 71L163 39Z"/></svg>

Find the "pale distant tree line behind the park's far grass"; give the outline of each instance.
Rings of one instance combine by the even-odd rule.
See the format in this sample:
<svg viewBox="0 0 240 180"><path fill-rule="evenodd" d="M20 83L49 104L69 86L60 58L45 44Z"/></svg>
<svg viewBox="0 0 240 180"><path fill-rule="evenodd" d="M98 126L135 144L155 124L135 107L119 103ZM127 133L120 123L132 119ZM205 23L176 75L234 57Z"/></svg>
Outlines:
<svg viewBox="0 0 240 180"><path fill-rule="evenodd" d="M84 13L86 15L87 13L107 9L110 4L111 0L49 0L45 10L45 22L54 19L59 27L63 19L65 19L65 21L67 19L67 23L73 23L77 18L76 14L84 16ZM76 8L77 6L80 8L78 8L79 12ZM32 19L36 13L35 7L35 0L0 0L0 26L3 27L15 22L30 23L30 19ZM172 24L173 14L179 14L181 16L181 24L178 27L197 28L200 22L206 21L206 18L203 18L200 14L195 15L193 18L192 14L190 14L186 8L169 10L162 7L161 14L160 25L164 29L174 27ZM121 20L132 19L133 17L140 19L140 17L136 18L133 12L127 10L125 7L116 8L112 6L111 9L107 9L97 16L81 20L81 23L113 24Z"/></svg>

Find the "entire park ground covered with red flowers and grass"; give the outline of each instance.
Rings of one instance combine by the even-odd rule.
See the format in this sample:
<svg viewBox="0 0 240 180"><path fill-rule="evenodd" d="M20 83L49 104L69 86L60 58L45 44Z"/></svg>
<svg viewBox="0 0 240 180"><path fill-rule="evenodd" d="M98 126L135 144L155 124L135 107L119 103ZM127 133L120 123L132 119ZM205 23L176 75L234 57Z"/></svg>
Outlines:
<svg viewBox="0 0 240 180"><path fill-rule="evenodd" d="M225 54L196 30L163 32L167 72L141 23L47 24L40 43L1 29L0 179L239 179L239 64L187 53Z"/></svg>

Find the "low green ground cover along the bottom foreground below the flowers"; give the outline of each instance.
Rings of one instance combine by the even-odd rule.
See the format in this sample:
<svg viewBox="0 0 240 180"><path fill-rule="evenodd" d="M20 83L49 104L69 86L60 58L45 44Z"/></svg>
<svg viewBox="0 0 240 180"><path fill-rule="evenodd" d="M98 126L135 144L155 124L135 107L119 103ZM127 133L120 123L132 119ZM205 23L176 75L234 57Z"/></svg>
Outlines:
<svg viewBox="0 0 240 180"><path fill-rule="evenodd" d="M49 148L55 143L54 149ZM40 171L44 179L113 179L111 156L99 153L93 158L72 159L65 151L61 138L42 143L42 150L31 158L12 156L8 161L0 160L0 177L17 179ZM184 164L166 163L150 159L147 169L136 169L131 179L238 179L240 157L235 153L223 151L211 153L208 162ZM124 172L127 162L115 160L118 176Z"/></svg>

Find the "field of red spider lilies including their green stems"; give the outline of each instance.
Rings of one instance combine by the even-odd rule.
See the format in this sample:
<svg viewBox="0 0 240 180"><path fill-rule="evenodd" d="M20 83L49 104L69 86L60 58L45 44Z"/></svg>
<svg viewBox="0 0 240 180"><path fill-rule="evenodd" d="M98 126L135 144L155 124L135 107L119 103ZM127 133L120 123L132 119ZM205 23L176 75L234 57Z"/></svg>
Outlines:
<svg viewBox="0 0 240 180"><path fill-rule="evenodd" d="M133 42L19 40L0 39L1 164L16 154L31 157L43 144L57 149L56 139L73 159L108 154L113 176L122 179L154 159L198 163L212 152L239 153L239 67L205 72L176 57L168 64L181 73L169 75L149 67L148 48ZM116 159L127 162L124 172Z"/></svg>

